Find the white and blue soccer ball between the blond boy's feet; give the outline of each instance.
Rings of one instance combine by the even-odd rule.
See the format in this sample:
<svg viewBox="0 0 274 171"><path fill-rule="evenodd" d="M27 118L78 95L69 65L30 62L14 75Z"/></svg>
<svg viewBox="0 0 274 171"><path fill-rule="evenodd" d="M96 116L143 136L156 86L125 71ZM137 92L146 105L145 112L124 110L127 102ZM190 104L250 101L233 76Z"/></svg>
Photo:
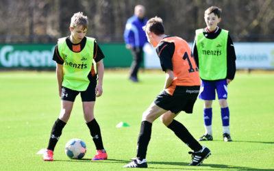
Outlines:
<svg viewBox="0 0 274 171"><path fill-rule="evenodd" d="M64 152L71 159L82 159L86 154L86 144L77 138L73 138L66 143Z"/></svg>

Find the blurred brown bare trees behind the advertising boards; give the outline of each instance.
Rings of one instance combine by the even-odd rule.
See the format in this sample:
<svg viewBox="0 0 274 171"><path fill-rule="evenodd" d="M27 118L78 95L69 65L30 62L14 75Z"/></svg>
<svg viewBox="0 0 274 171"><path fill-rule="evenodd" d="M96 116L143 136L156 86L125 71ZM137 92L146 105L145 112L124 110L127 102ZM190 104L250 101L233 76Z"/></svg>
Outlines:
<svg viewBox="0 0 274 171"><path fill-rule="evenodd" d="M223 9L220 27L234 41L274 41L273 0L0 0L0 43L55 42L70 34L71 16L79 11L88 16L88 36L123 42L137 4L145 5L147 18L162 17L166 33L187 41L206 27L203 14L211 5Z"/></svg>

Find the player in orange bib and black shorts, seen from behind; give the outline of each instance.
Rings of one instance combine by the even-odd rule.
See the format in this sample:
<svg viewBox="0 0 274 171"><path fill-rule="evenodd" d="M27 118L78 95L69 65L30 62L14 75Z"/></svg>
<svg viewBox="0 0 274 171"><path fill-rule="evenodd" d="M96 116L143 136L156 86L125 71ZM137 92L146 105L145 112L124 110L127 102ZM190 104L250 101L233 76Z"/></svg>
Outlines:
<svg viewBox="0 0 274 171"><path fill-rule="evenodd" d="M180 111L191 114L200 88L199 71L192 58L188 43L176 36L166 36L162 19L155 16L143 27L147 40L156 47L162 70L166 73L164 90L142 114L138 137L137 156L125 168L147 168L147 146L151 138L151 127L155 119L171 129L180 140L194 152L190 166L199 166L210 155L206 146L201 146L183 124L174 120Z"/></svg>

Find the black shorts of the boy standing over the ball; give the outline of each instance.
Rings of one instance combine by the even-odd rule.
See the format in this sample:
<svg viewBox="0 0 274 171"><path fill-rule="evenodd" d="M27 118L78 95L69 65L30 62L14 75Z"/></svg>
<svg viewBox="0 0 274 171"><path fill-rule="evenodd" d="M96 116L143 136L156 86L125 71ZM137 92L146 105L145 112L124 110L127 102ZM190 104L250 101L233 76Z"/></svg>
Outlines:
<svg viewBox="0 0 274 171"><path fill-rule="evenodd" d="M96 94L95 88L97 81L92 81L88 85L88 88L84 92L79 92L76 90L71 90L69 88L62 87L61 101L75 101L76 96L81 93L82 101L95 101Z"/></svg>

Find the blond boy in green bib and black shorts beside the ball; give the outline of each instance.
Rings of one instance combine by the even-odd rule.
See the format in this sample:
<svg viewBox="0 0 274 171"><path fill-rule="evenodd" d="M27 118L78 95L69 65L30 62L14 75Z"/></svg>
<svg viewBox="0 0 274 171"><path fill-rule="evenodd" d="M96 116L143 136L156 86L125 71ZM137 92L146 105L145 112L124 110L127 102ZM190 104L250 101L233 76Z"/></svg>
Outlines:
<svg viewBox="0 0 274 171"><path fill-rule="evenodd" d="M107 159L108 155L103 148L100 127L93 114L95 98L103 93L104 67L102 59L105 56L96 40L86 37L88 17L84 16L82 12L77 12L72 16L69 29L71 35L58 39L53 54L53 60L56 62L59 96L61 97L61 111L51 129L51 137L43 159L53 161L53 150L62 134L62 129L69 120L75 97L79 93L82 97L84 118L97 148L97 155L92 160Z"/></svg>

